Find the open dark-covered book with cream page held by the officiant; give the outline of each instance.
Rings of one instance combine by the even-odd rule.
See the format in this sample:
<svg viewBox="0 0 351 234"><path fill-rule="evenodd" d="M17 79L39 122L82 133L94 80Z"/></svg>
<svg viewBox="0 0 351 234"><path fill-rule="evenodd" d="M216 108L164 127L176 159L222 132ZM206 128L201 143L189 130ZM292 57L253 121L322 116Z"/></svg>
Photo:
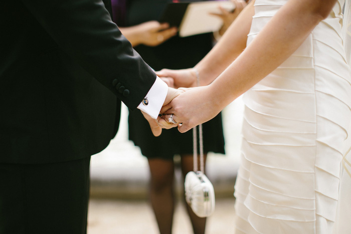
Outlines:
<svg viewBox="0 0 351 234"><path fill-rule="evenodd" d="M178 27L181 37L218 31L223 22L210 13L221 13L219 6L233 11L235 5L230 1L206 1L195 3L169 3L159 22Z"/></svg>

